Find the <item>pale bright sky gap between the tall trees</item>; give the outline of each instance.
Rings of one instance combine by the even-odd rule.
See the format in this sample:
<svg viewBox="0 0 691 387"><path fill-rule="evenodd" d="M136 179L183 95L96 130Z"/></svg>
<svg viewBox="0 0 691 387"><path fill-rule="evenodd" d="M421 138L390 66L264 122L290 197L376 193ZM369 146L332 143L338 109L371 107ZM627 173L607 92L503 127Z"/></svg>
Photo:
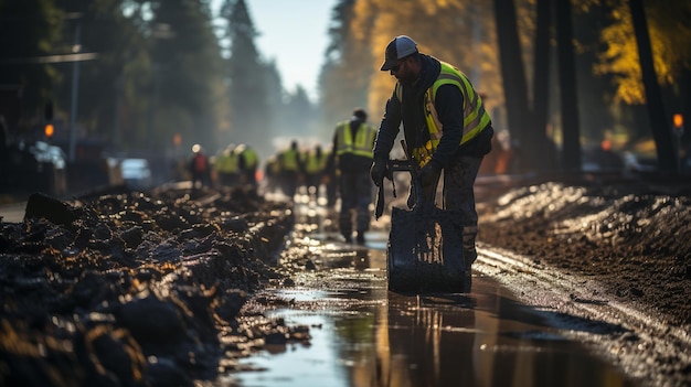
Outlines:
<svg viewBox="0 0 691 387"><path fill-rule="evenodd" d="M212 0L215 8L222 0ZM328 44L327 30L337 0L245 0L259 35L262 56L274 60L283 86L295 92L301 85L312 101Z"/></svg>

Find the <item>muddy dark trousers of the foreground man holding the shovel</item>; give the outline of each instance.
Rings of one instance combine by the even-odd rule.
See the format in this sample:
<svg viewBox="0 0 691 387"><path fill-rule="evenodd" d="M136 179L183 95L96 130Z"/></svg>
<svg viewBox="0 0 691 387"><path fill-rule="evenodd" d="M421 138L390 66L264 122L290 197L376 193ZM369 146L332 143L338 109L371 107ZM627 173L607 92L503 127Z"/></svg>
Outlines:
<svg viewBox="0 0 691 387"><path fill-rule="evenodd" d="M464 257L469 268L478 257L475 239L478 235L478 213L475 209L475 179L482 158L456 155L444 171L444 208L457 209L464 227ZM423 189L425 197L432 197L432 186Z"/></svg>

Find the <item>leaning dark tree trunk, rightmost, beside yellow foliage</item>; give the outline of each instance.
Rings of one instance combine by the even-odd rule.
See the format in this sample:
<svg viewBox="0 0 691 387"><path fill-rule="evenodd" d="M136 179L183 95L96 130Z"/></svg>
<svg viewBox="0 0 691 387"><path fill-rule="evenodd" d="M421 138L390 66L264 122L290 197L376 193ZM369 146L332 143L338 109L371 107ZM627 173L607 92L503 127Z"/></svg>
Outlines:
<svg viewBox="0 0 691 387"><path fill-rule="evenodd" d="M665 114L665 105L658 85L658 77L652 63L652 47L648 34L648 21L642 0L629 0L631 10L631 21L634 32L638 43L638 56L640 58L640 69L642 72L644 86L646 88L646 101L648 106L648 117L650 128L658 152L658 168L660 173L676 175L678 171L677 155L672 143L672 133L669 120Z"/></svg>

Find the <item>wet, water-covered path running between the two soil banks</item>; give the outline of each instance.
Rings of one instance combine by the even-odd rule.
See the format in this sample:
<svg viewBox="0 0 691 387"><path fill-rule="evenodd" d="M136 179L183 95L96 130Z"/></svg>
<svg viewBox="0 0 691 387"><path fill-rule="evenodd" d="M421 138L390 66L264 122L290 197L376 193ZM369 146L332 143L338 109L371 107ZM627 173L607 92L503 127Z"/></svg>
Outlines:
<svg viewBox="0 0 691 387"><path fill-rule="evenodd" d="M244 372L221 380L240 386L645 384L600 352L604 341L618 341L632 334L629 330L561 312L557 304L573 303L568 292L546 292L552 295L544 304L529 305L493 279L522 276L530 286L534 278L515 269L523 266L519 260L485 247L470 292L391 292L386 216L373 224L363 246L343 244L331 223L334 214L302 198L280 258L290 286L265 289L246 308L309 326L309 344L266 348L241 362Z"/></svg>

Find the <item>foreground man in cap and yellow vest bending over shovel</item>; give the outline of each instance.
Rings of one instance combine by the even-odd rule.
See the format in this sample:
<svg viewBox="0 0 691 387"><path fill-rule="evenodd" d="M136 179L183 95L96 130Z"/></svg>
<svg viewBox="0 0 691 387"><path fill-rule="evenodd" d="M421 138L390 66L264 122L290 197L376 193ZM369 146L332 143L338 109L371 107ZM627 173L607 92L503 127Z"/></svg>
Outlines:
<svg viewBox="0 0 691 387"><path fill-rule="evenodd" d="M379 186L387 175L386 161L403 122L406 152L418 166L423 195L434 201L444 171L444 207L463 214L465 276L469 279L477 258L474 185L495 133L489 114L464 73L418 52L406 35L389 43L381 71L390 72L397 83L386 101L374 144L372 181ZM408 200L408 206L414 203L414 197Z"/></svg>

